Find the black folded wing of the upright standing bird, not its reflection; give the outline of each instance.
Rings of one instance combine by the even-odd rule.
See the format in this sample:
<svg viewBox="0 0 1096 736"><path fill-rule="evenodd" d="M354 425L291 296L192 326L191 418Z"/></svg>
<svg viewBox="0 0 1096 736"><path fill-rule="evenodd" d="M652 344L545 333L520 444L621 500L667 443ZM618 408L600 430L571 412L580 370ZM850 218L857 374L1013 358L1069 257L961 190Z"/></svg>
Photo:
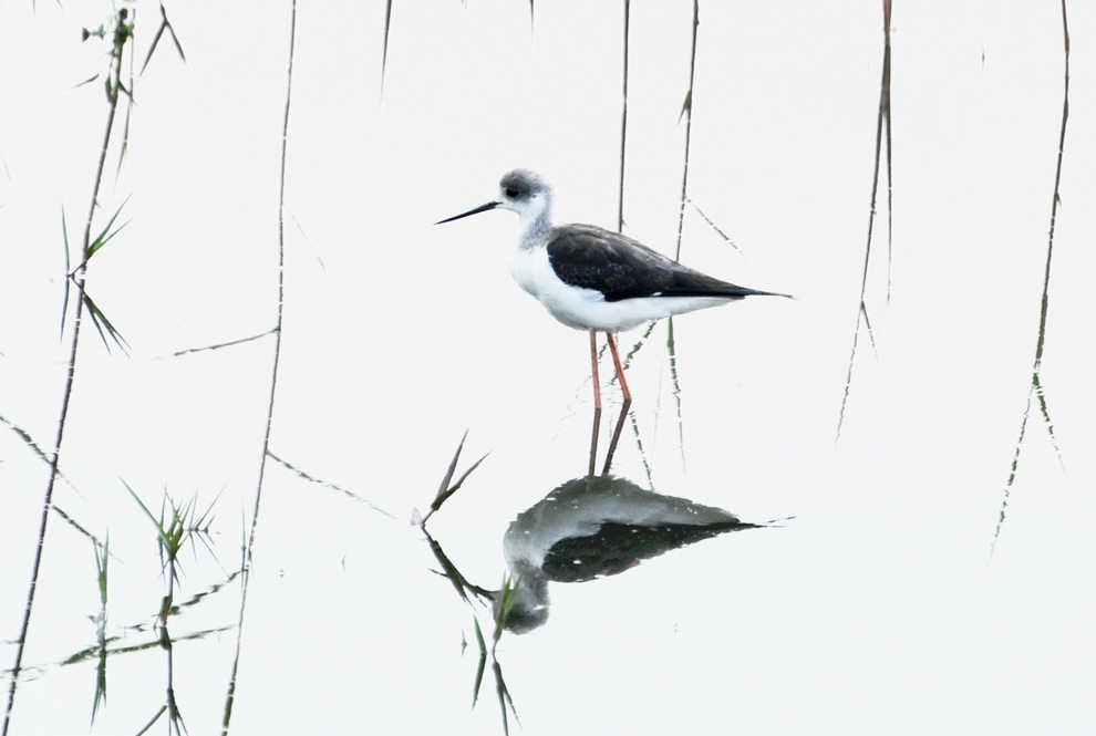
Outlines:
<svg viewBox="0 0 1096 736"><path fill-rule="evenodd" d="M551 267L565 283L600 291L606 301L640 297L783 296L721 281L593 225L558 227L547 247Z"/></svg>

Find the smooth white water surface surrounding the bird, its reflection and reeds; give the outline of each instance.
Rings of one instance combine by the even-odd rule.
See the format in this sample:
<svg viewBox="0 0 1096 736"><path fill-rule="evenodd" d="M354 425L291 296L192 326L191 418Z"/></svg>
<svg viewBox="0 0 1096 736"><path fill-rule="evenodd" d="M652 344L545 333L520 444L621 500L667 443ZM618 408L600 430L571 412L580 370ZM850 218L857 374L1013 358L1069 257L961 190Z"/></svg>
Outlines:
<svg viewBox="0 0 1096 736"><path fill-rule="evenodd" d="M110 533L107 633L120 647L154 639L164 593L155 531L122 480L154 510L165 488L211 505L216 557L198 545L182 558L177 597L224 580L250 530L273 354L268 335L174 355L275 325L290 8L166 10L186 62L165 37L139 73L159 11L138 3L126 156L118 167L120 120L93 229L120 207L128 225L87 274L131 349L107 353L84 325L69 483L54 496L99 539ZM892 259L888 269L882 179L871 339L861 326L845 398L881 3L701 4L689 194L738 251L687 208L682 261L796 300L675 320L680 414L666 325L655 328L629 372L642 452L625 432L616 471L745 520L795 519L555 585L548 624L498 650L524 733L1096 727L1096 15L1085 2L1068 10L1041 372L1054 442L1032 403L1009 487L1062 124L1061 7L897 3ZM75 246L107 108L101 80L73 89L108 61L108 43L81 43L80 31L112 12L0 8L6 668L48 477L11 426L51 452L71 335L59 338L62 210ZM430 571L407 519L469 429L458 471L492 454L431 531L469 579L497 587L507 524L586 468L587 338L510 280L513 216L432 222L527 166L554 180L559 221L614 227L621 3L537 2L530 28L517 0L395 2L382 93L383 23L380 2L298 9L270 449L391 516L268 463L242 633L175 647L190 734L220 729L240 635L232 733L500 733L489 673L471 709L473 611ZM632 6L625 231L670 253L691 23L689 2ZM54 515L44 550L13 734L81 733L91 717L94 660L59 663L95 641L93 547ZM232 583L172 633L231 626L238 612ZM113 654L107 672L93 730L136 733L164 702L165 654Z"/></svg>

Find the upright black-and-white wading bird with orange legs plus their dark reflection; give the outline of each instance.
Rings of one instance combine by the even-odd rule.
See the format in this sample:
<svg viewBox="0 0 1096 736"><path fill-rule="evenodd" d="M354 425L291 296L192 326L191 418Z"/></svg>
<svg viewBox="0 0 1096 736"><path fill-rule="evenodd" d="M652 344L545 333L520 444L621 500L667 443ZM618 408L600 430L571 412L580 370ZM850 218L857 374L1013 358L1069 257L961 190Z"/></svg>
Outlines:
<svg viewBox="0 0 1096 736"><path fill-rule="evenodd" d="M492 209L517 214L518 232L507 256L514 280L558 321L590 333L594 448L601 415L597 333L606 333L623 394L620 421L606 460L608 473L616 440L632 402L613 333L746 297L789 294L721 281L682 266L625 235L596 225L554 225L554 200L555 189L547 178L528 168L516 168L499 180L497 199L435 225ZM590 462L592 476L592 454Z"/></svg>

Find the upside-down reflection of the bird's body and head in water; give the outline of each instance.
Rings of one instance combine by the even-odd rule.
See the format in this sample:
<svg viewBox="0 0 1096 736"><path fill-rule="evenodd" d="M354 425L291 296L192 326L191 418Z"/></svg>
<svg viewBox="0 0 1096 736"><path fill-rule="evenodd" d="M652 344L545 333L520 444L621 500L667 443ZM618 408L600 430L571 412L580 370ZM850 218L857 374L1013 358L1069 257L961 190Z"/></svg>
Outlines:
<svg viewBox="0 0 1096 736"><path fill-rule="evenodd" d="M755 529L736 516L644 490L623 478L576 478L510 524L503 554L515 581L495 597L496 624L526 633L548 620L548 582L614 576L643 560L728 531Z"/></svg>

